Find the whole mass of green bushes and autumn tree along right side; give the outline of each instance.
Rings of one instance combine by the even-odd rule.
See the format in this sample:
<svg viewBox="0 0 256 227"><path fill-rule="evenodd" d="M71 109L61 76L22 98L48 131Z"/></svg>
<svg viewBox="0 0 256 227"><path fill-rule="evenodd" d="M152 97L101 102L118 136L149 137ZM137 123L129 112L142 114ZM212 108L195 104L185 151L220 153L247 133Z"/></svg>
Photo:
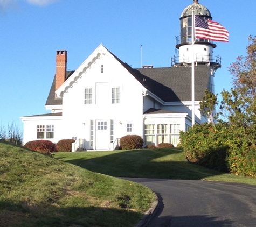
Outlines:
<svg viewBox="0 0 256 227"><path fill-rule="evenodd" d="M229 68L233 88L222 92L217 113L222 119L216 125L195 125L181 132L181 144L191 162L256 178L256 37L249 37L246 53ZM216 100L206 91L201 113L210 117Z"/></svg>

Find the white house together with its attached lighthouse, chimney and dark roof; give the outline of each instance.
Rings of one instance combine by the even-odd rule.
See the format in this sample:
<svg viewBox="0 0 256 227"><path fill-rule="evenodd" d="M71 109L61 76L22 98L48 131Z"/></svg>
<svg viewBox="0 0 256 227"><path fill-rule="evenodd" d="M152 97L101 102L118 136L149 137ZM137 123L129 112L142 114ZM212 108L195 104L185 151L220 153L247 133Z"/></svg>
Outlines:
<svg viewBox="0 0 256 227"><path fill-rule="evenodd" d="M192 7L196 15L211 18L198 1L183 11L183 38L176 45L181 50L171 67L133 69L100 44L77 70L67 71L67 51L57 51L56 74L45 105L51 113L21 117L24 143L73 138L86 150L114 150L121 137L137 134L145 145L177 145L179 131L191 126L191 39L184 20L191 20ZM213 60L215 47L202 39L195 45L197 124L207 121L198 110L199 101L205 89L214 92L213 77L220 67L219 58Z"/></svg>

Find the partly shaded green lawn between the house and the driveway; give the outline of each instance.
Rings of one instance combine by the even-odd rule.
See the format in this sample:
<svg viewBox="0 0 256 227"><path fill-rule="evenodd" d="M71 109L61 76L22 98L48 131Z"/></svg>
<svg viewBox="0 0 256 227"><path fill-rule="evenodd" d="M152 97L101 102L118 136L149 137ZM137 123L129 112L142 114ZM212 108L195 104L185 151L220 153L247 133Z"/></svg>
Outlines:
<svg viewBox="0 0 256 227"><path fill-rule="evenodd" d="M182 148L54 153L54 158L110 176L231 181L256 185L256 179L190 164Z"/></svg>

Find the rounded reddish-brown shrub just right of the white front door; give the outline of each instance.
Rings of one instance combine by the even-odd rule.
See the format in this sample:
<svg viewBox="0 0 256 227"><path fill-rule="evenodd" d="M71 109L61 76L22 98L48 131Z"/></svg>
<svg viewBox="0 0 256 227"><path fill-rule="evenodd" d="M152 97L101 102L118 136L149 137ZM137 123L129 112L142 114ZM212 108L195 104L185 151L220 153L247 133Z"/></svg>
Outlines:
<svg viewBox="0 0 256 227"><path fill-rule="evenodd" d="M143 144L143 139L137 135L127 135L120 139L120 146L124 150L141 149Z"/></svg>

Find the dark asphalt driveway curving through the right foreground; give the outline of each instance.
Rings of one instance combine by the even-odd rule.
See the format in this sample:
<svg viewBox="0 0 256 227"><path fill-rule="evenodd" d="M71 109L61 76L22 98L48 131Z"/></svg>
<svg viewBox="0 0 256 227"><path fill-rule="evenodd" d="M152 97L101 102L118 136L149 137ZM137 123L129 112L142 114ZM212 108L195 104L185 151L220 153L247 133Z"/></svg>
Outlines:
<svg viewBox="0 0 256 227"><path fill-rule="evenodd" d="M147 227L255 227L256 186L243 183L123 178L160 198Z"/></svg>

